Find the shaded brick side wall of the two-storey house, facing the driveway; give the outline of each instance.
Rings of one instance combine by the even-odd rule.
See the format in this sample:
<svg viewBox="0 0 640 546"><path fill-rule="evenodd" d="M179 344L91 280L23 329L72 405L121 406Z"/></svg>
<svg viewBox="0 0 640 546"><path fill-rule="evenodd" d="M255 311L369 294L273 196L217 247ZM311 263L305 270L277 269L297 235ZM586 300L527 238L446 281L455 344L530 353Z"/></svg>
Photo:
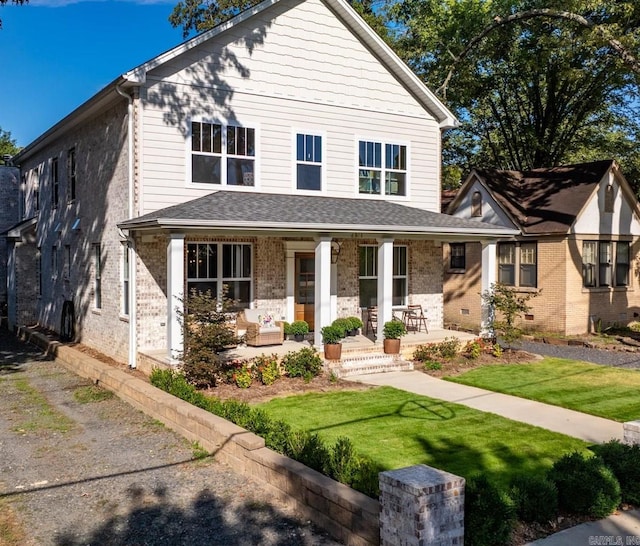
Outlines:
<svg viewBox="0 0 640 546"><path fill-rule="evenodd" d="M76 199L68 201L67 152L76 152ZM52 203L50 160L58 158L59 202ZM119 101L102 115L63 134L28 156L23 173L41 169L37 247L42 252L42 295L37 300L38 323L60 331L64 300L76 311L77 339L120 361L128 356L128 321L121 316L122 243L117 223L128 217L127 103ZM35 214L29 189L26 217ZM80 219L80 229L72 226ZM95 309L94 247L101 245L102 307ZM57 270L53 270L53 246ZM65 267L69 246L71 266ZM35 249L32 249L32 252ZM21 268L22 265L19 265ZM67 274L68 273L68 274ZM34 284L18 280L20 294L35 299Z"/></svg>

